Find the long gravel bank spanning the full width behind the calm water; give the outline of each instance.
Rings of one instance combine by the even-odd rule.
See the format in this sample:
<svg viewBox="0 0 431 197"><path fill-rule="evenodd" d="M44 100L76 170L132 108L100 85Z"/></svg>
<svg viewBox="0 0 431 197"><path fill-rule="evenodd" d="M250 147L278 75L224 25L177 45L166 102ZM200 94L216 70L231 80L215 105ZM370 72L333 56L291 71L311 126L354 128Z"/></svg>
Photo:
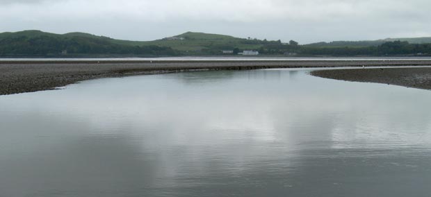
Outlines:
<svg viewBox="0 0 431 197"><path fill-rule="evenodd" d="M291 61L0 61L0 95L54 89L94 78L161 74L190 70L268 69L295 67L423 66L430 60L291 60ZM365 69L366 70L366 69ZM369 81L430 89L431 69L400 72L318 71L313 74L343 80ZM389 70L389 69L388 69ZM395 70L394 70L395 71ZM341 74L343 73L343 74ZM380 73L380 72L379 72ZM352 76L349 77L349 74ZM366 77L371 74L370 77ZM391 76L396 74L395 76ZM361 76L361 77L359 77ZM398 78L393 80L393 78ZM387 81L391 80L391 81ZM405 86L407 86L405 85Z"/></svg>

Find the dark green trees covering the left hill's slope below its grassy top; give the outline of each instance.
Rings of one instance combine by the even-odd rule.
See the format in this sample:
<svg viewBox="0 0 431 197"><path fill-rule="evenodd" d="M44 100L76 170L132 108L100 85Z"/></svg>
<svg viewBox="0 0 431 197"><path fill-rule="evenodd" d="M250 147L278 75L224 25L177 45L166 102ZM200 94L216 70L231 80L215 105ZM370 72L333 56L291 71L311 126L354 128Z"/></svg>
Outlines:
<svg viewBox="0 0 431 197"><path fill-rule="evenodd" d="M4 37L0 40L0 56L60 56L60 55L179 55L165 46L130 46L114 44L97 37Z"/></svg>

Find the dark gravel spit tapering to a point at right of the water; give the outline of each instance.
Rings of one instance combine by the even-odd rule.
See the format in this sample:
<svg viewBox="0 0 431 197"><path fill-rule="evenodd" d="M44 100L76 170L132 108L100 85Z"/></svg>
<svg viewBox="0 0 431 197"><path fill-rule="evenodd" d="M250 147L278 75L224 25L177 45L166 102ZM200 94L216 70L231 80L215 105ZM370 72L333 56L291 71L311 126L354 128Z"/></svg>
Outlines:
<svg viewBox="0 0 431 197"><path fill-rule="evenodd" d="M311 75L336 80L431 89L431 67L322 70L312 71Z"/></svg>

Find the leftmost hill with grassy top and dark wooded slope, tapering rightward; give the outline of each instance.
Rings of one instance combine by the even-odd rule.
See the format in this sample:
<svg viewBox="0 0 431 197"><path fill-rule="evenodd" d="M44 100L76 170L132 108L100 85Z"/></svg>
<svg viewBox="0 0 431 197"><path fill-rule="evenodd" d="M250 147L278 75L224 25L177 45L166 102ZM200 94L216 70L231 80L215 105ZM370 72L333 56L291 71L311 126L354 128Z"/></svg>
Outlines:
<svg viewBox="0 0 431 197"><path fill-rule="evenodd" d="M89 33L38 30L0 33L0 57L163 56L179 55L170 47L122 44L122 40Z"/></svg>

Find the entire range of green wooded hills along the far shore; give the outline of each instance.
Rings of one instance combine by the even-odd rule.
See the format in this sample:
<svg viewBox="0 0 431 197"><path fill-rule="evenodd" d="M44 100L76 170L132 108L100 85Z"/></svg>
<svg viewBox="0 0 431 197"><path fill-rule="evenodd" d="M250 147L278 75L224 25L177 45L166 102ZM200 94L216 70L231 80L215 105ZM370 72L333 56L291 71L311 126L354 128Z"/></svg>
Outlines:
<svg viewBox="0 0 431 197"><path fill-rule="evenodd" d="M284 56L431 55L431 37L318 42L300 45L293 40L283 43L281 40L258 40L251 37L240 38L190 31L153 41L116 40L80 32L56 34L29 30L0 33L0 58L238 55L243 51Z"/></svg>

